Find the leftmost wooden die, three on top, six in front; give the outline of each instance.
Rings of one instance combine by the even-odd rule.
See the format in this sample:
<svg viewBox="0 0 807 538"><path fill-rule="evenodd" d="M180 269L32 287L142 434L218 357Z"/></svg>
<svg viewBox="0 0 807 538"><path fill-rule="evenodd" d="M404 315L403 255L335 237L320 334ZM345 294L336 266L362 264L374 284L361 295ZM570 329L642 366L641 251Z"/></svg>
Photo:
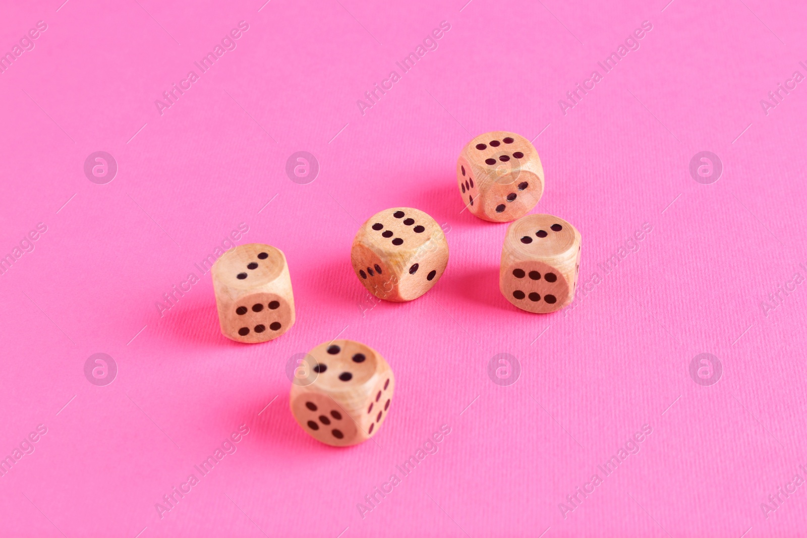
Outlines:
<svg viewBox="0 0 807 538"><path fill-rule="evenodd" d="M295 323L286 256L268 244L224 252L211 271L221 333L236 342L274 340Z"/></svg>

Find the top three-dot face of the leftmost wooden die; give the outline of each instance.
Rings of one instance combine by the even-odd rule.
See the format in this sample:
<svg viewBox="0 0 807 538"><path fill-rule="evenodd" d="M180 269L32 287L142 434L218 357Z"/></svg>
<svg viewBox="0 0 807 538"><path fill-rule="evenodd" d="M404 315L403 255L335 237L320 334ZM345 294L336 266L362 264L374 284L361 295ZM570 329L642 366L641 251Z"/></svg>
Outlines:
<svg viewBox="0 0 807 538"><path fill-rule="evenodd" d="M213 265L213 277L232 288L249 290L272 282L286 266L286 256L268 244L231 248Z"/></svg>

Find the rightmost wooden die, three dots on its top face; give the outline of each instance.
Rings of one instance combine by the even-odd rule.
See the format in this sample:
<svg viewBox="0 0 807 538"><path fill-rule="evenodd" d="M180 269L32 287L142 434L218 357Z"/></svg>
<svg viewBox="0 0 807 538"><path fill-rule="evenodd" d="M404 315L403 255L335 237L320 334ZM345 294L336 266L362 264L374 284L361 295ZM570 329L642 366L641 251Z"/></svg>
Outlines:
<svg viewBox="0 0 807 538"><path fill-rule="evenodd" d="M499 289L528 312L546 313L575 298L580 270L580 232L553 215L527 215L508 226L502 247Z"/></svg>

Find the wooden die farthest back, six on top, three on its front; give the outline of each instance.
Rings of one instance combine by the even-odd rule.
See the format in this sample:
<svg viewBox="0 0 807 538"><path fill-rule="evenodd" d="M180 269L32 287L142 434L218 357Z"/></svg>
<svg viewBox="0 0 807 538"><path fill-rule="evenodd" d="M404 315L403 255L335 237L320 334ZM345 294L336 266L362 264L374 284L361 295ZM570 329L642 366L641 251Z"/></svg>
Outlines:
<svg viewBox="0 0 807 538"><path fill-rule="evenodd" d="M494 223L520 219L544 192L544 169L533 144L508 131L477 136L457 160L462 203Z"/></svg>

